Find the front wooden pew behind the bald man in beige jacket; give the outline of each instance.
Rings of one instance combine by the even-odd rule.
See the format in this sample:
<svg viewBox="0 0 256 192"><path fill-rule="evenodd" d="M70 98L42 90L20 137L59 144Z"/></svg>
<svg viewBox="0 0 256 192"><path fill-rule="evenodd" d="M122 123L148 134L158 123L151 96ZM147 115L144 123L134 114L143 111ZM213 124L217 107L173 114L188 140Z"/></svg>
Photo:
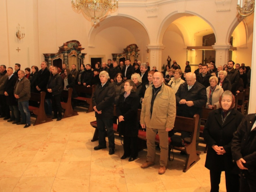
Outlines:
<svg viewBox="0 0 256 192"><path fill-rule="evenodd" d="M141 110L138 110L138 120L140 120L140 113L141 113ZM114 114L115 114L115 109L114 109ZM183 172L186 172L191 166L193 166L196 162L198 162L200 160L200 155L197 154L197 151L196 151L196 137L197 137L198 121L199 121L199 115L197 115L197 114L194 115L194 118L186 118L186 117L176 116L174 131L175 132L185 131L185 132L191 133L190 134L191 135L191 137L190 137L191 143L186 144L184 147L172 146L172 143L171 143L172 141L171 141L170 137L168 138L169 160L170 160L170 151L172 150L172 148L174 148L175 150L178 150L178 151L182 151L187 154ZM91 141L96 141L96 140L98 140L97 122L92 121L91 125L95 128L93 139ZM118 133L117 132L117 124L115 124L115 123L113 123L113 130L114 130L114 133ZM138 138L146 141L146 132L139 130ZM159 144L159 142L160 142L158 135L156 135L155 142L157 144Z"/></svg>

